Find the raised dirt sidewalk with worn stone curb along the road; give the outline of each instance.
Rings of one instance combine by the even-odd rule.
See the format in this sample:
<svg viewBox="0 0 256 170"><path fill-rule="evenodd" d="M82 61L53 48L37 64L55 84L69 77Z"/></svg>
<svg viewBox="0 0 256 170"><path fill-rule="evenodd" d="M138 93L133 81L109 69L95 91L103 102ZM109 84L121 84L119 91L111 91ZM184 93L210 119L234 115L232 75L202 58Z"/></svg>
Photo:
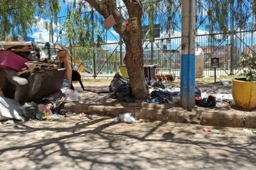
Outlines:
<svg viewBox="0 0 256 170"><path fill-rule="evenodd" d="M174 123L193 123L210 126L256 128L256 111L241 111L240 108L231 104L228 108L201 108L186 111L175 104L135 103L118 102L108 97L108 94L96 94L90 91L80 93L82 99L74 103L65 103L66 111L74 113L96 114L116 117L122 113L132 113L137 120L169 121Z"/></svg>

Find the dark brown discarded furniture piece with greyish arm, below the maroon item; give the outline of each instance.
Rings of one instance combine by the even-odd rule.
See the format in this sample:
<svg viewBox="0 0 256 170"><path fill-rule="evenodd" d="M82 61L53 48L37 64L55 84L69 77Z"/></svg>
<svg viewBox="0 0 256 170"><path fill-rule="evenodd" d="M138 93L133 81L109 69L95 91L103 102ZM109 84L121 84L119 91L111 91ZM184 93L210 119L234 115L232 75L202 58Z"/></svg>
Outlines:
<svg viewBox="0 0 256 170"><path fill-rule="evenodd" d="M20 103L41 99L60 91L65 69L49 69L18 77L13 69L2 69L4 84L1 90L7 98Z"/></svg>

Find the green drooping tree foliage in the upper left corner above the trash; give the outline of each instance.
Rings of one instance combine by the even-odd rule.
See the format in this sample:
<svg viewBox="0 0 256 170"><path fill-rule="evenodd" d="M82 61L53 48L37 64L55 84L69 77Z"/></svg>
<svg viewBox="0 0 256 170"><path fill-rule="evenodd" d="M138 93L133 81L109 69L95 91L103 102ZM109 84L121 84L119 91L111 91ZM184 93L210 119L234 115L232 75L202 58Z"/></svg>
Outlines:
<svg viewBox="0 0 256 170"><path fill-rule="evenodd" d="M56 18L60 10L58 0L0 0L0 4L0 38L26 37L40 18Z"/></svg>

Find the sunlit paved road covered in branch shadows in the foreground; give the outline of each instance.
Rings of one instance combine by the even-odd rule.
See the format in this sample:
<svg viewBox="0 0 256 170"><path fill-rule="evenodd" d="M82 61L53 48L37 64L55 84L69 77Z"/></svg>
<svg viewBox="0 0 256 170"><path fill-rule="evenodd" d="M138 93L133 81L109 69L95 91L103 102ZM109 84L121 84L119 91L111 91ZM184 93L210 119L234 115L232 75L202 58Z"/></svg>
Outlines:
<svg viewBox="0 0 256 170"><path fill-rule="evenodd" d="M5 169L256 169L256 136L241 128L114 123L70 115L0 125ZM256 132L256 130L254 130Z"/></svg>

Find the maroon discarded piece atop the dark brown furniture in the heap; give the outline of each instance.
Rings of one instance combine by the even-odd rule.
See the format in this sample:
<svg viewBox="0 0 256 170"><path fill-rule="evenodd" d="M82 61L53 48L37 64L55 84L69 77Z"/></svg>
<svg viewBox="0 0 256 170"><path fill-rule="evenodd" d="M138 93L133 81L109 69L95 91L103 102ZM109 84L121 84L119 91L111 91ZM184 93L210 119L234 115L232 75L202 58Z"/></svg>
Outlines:
<svg viewBox="0 0 256 170"><path fill-rule="evenodd" d="M28 62L28 60L16 55L14 52L0 51L0 67L21 71L22 68L26 67L26 62Z"/></svg>

